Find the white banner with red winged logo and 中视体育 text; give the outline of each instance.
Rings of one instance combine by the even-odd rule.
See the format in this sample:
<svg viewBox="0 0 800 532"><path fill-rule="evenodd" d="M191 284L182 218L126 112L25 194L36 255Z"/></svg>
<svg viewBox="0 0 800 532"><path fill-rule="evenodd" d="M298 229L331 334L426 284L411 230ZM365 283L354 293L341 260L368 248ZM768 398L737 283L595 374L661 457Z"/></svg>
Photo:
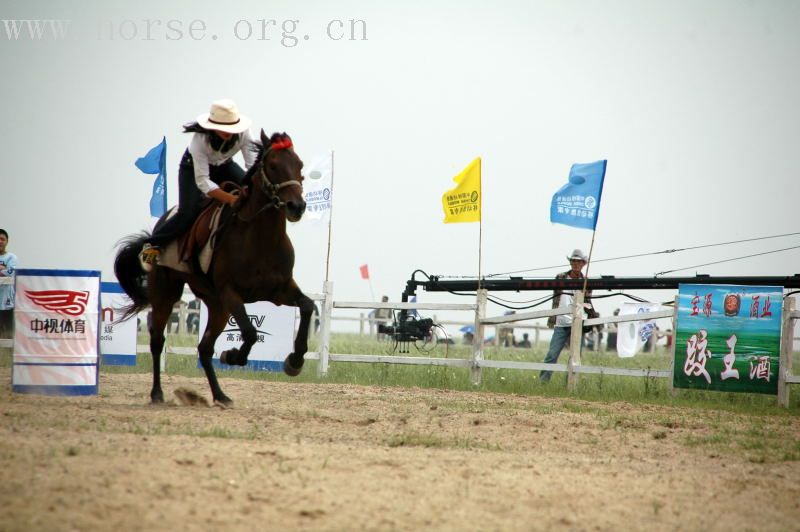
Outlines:
<svg viewBox="0 0 800 532"><path fill-rule="evenodd" d="M97 394L100 272L17 270L12 389Z"/></svg>

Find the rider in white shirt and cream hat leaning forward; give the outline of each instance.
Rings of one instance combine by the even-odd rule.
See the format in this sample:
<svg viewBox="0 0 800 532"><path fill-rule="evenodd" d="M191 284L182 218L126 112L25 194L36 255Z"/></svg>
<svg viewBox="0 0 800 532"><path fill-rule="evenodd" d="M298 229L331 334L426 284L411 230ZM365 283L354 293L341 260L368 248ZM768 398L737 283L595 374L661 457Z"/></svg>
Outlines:
<svg viewBox="0 0 800 532"><path fill-rule="evenodd" d="M224 181L241 183L245 171L233 161L242 152L246 168L256 159L251 121L239 114L232 100L217 100L211 110L197 117L197 121L183 126L184 133L194 133L189 147L181 159L178 172L178 209L163 224L156 225L153 234L145 240L139 259L145 271L158 262L161 246L177 239L188 231L200 214L204 196L228 205L236 203L238 196L230 194L219 184Z"/></svg>

